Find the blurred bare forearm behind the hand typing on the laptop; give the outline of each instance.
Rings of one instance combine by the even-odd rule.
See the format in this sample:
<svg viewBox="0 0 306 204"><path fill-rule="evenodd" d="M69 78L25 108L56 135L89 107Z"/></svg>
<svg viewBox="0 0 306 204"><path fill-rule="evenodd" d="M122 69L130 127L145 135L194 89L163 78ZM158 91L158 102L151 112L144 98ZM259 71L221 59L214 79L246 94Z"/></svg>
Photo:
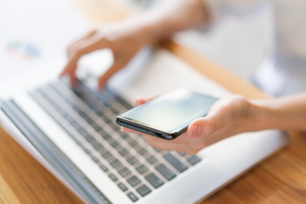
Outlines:
<svg viewBox="0 0 306 204"><path fill-rule="evenodd" d="M123 23L139 39L150 44L169 38L174 32L197 27L208 20L201 0L177 0L135 15Z"/></svg>

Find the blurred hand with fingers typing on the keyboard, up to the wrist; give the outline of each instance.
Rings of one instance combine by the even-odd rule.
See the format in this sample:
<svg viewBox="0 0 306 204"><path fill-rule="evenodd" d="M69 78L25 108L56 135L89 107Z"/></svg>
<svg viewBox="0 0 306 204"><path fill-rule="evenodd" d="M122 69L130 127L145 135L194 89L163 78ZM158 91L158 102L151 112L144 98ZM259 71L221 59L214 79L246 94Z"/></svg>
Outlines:
<svg viewBox="0 0 306 204"><path fill-rule="evenodd" d="M68 46L68 61L60 75L69 75L71 85L74 85L77 82L75 71L79 59L95 50L110 48L114 63L98 80L99 88L103 88L105 82L123 68L147 42L141 29L137 29L131 22L120 22L104 27L103 30L94 30Z"/></svg>

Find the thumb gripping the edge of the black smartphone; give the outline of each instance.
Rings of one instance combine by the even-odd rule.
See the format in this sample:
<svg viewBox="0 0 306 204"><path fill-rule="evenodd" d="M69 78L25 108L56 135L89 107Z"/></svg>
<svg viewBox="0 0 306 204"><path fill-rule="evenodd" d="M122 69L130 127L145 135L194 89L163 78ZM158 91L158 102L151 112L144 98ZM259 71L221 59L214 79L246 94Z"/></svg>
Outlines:
<svg viewBox="0 0 306 204"><path fill-rule="evenodd" d="M222 127L222 119L209 115L193 120L189 126L187 135L189 138L208 136L217 132Z"/></svg>

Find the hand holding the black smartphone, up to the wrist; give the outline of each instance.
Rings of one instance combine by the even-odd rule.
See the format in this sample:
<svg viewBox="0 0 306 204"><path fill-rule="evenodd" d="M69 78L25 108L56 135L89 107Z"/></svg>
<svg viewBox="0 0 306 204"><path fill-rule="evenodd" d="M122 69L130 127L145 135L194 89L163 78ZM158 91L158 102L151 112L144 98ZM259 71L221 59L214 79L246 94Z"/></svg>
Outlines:
<svg viewBox="0 0 306 204"><path fill-rule="evenodd" d="M151 99L138 99L136 105ZM256 130L254 107L241 96L223 98L211 107L207 116L192 121L187 132L174 140L160 139L126 127L121 127L121 130L143 135L146 142L157 149L196 154L202 148L227 137Z"/></svg>

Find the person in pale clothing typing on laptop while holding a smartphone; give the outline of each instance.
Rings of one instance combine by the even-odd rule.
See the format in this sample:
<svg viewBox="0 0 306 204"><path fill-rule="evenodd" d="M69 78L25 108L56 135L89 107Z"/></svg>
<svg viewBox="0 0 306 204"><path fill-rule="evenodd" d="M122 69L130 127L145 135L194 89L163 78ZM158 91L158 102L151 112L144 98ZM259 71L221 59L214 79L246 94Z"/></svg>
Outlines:
<svg viewBox="0 0 306 204"><path fill-rule="evenodd" d="M110 48L114 55L114 64L99 78L99 87L103 88L105 82L123 68L144 45L165 40L176 31L187 28L209 28L224 14L245 13L250 8L260 5L259 3L260 1L245 2L240 0L178 0L175 4L154 8L144 14L104 27L102 30L93 31L74 42L68 47L68 62L62 75L68 74L72 84L75 83L77 61L83 55L97 49ZM276 17L282 12L284 16L289 17L290 12L286 14L285 10L285 8L288 8L295 14L301 14L300 16L294 15L295 17L302 20L306 19L302 18L306 15L304 9L294 10L294 8L300 8L301 6L306 8L306 3L303 0L295 0L295 3L299 5L295 7L291 3L292 8L285 6L279 8L278 6L282 6L282 3L283 6L286 4L282 1L275 2ZM295 84L297 81L299 81L297 83L299 86L293 89L291 93L298 89L305 90L306 78L303 78L303 76L306 77L306 74L292 75L291 72L284 70L291 65L296 65L296 61L300 61L294 68L299 70L298 67L300 67L298 73L306 73L306 65L303 67L306 59L306 46L297 46L299 42L306 42L306 30L300 28L300 31L297 32L292 27L292 23L284 20L283 25L287 26L289 31L292 31L288 33L286 27L278 27L278 20L279 18L276 18L276 32L279 33L281 38L278 38L278 36L276 38L276 64L278 65L277 68L282 69L283 76L281 77L284 79L287 77L291 80L283 80L282 84L278 84L281 87L278 88L278 91L288 92L285 83ZM296 22L296 19L293 19L293 21ZM286 62L281 63L283 61ZM267 70L267 73L272 72ZM257 75L257 78L261 79L261 73ZM261 80L258 80L258 82L261 83ZM260 85L264 87L264 84ZM141 104L148 100L150 99L139 99L136 103ZM148 135L144 136L146 141L155 148L194 154L207 145L238 133L272 128L306 131L306 92L270 100L247 100L241 96L224 98L215 103L206 117L191 122L188 131L175 140L165 141ZM122 131L135 132L128 128L122 128Z"/></svg>

